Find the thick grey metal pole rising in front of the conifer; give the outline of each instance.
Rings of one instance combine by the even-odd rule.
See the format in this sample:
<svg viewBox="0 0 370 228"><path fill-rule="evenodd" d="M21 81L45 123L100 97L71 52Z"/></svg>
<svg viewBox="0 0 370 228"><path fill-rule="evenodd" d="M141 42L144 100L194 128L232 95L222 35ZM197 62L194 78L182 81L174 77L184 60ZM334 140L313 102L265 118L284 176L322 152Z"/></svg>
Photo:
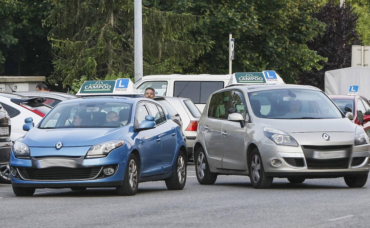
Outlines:
<svg viewBox="0 0 370 228"><path fill-rule="evenodd" d="M142 11L141 0L134 3L135 82L142 78Z"/></svg>

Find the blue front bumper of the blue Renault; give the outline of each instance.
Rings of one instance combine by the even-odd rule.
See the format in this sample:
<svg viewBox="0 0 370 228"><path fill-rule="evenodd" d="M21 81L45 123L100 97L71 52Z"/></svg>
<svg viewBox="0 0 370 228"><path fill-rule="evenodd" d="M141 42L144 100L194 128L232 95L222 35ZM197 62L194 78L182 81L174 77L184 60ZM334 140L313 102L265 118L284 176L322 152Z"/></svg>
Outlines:
<svg viewBox="0 0 370 228"><path fill-rule="evenodd" d="M11 175L13 186L36 188L70 187L115 187L123 184L127 155L122 150L113 150L107 157L84 159L74 157L77 167L38 168L37 159L19 159L10 154L10 168L17 175ZM59 156L68 158L68 156ZM48 158L48 157L44 157ZM38 158L39 159L39 158ZM78 161L78 162L77 162ZM112 167L114 173L104 174L104 169Z"/></svg>

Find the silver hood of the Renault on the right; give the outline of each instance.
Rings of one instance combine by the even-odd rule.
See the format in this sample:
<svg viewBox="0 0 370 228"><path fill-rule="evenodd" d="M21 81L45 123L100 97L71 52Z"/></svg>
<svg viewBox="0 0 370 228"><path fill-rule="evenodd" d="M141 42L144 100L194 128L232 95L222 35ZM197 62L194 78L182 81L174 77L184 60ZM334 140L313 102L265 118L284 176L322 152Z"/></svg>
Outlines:
<svg viewBox="0 0 370 228"><path fill-rule="evenodd" d="M342 119L263 119L264 126L286 133L301 132L355 132L356 126L348 118Z"/></svg>

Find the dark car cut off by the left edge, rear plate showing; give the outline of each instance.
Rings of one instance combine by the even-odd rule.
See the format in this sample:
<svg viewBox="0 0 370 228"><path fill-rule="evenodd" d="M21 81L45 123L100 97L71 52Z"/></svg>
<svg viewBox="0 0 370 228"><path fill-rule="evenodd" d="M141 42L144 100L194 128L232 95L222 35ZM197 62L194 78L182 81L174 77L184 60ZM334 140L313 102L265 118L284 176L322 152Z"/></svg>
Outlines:
<svg viewBox="0 0 370 228"><path fill-rule="evenodd" d="M13 143L10 140L11 120L0 104L0 183L10 184L9 154Z"/></svg>

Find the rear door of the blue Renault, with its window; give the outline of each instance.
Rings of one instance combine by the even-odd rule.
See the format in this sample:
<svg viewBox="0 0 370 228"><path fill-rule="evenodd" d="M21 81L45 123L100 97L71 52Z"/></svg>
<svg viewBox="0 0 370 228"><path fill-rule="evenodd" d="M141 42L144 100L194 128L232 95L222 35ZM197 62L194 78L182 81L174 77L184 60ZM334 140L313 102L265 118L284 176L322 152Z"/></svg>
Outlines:
<svg viewBox="0 0 370 228"><path fill-rule="evenodd" d="M171 169L172 160L176 150L176 129L175 125L167 121L164 111L161 106L147 102L147 106L151 115L154 116L154 121L157 124L158 132L161 132L160 140L162 150L159 154L159 164L163 167L163 171L167 172Z"/></svg>

